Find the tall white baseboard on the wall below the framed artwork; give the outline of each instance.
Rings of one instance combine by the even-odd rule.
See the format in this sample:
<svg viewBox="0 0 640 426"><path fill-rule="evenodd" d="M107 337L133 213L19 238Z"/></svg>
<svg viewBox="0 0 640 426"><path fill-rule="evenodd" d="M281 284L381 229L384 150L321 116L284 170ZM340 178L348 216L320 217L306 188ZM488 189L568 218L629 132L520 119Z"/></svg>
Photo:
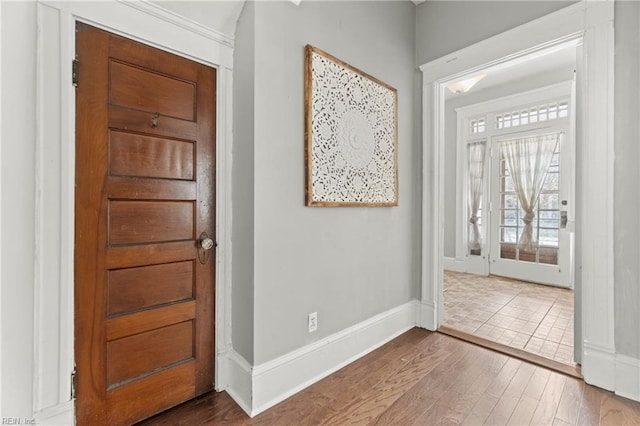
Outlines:
<svg viewBox="0 0 640 426"><path fill-rule="evenodd" d="M417 310L411 301L254 367L251 410L243 409L253 417L382 346L416 326Z"/></svg>

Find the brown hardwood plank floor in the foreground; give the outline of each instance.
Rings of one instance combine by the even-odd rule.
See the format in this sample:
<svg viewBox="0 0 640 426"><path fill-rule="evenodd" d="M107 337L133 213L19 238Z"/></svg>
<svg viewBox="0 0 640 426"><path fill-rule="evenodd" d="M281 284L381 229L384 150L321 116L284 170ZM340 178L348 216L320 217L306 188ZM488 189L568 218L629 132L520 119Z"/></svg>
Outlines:
<svg viewBox="0 0 640 426"><path fill-rule="evenodd" d="M414 328L250 419L209 393L140 425L633 425L640 403Z"/></svg>

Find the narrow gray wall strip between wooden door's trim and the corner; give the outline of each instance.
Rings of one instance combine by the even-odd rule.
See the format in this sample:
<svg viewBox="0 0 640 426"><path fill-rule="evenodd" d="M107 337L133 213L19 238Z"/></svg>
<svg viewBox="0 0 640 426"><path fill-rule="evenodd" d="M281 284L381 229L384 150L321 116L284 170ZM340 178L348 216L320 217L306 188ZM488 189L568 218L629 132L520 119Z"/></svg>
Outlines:
<svg viewBox="0 0 640 426"><path fill-rule="evenodd" d="M233 348L253 363L255 3L238 22L233 56L232 308Z"/></svg>

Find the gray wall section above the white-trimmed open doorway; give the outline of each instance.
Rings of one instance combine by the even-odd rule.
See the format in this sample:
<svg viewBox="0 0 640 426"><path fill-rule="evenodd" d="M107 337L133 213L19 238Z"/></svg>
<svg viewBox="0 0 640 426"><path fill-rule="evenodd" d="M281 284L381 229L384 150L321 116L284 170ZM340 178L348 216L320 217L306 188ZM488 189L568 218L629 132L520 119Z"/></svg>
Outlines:
<svg viewBox="0 0 640 426"><path fill-rule="evenodd" d="M417 8L418 65L570 5L573 1L427 1Z"/></svg>

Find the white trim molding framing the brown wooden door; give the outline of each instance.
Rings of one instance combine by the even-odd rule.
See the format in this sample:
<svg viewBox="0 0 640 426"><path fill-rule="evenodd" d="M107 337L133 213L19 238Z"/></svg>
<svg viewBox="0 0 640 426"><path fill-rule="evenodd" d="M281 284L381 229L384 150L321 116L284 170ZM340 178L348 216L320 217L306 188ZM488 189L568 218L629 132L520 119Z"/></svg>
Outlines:
<svg viewBox="0 0 640 426"><path fill-rule="evenodd" d="M38 424L72 424L74 369L75 23L175 53L218 70L216 140L216 383L231 364L231 143L233 37L148 1L37 4L36 244L33 413Z"/></svg>

